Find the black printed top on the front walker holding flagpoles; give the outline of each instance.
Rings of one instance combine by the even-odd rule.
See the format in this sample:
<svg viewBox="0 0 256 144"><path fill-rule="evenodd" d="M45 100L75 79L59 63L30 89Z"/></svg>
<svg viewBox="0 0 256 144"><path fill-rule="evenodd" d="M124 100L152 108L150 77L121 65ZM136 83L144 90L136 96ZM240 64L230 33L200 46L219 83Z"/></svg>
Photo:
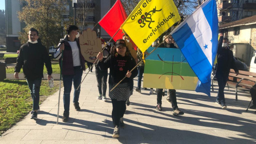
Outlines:
<svg viewBox="0 0 256 144"><path fill-rule="evenodd" d="M110 85L115 85L125 77L127 70L131 71L132 68L136 66L136 62L131 55L125 57L121 57L120 55L117 57L115 55L110 55L105 61L98 62L98 66L101 70L110 69L108 83ZM132 85L133 78L138 75L137 68L131 73L131 77L126 77L122 83L129 83L130 86Z"/></svg>

